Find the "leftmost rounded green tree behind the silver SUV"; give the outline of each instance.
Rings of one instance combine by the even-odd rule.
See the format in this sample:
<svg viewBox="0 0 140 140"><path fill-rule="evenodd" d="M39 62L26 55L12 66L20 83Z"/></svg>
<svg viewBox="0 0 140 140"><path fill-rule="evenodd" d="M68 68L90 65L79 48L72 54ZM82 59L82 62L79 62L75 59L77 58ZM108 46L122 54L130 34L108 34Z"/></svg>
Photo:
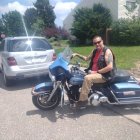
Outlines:
<svg viewBox="0 0 140 140"><path fill-rule="evenodd" d="M2 15L3 28L7 36L25 35L22 16L17 11Z"/></svg>

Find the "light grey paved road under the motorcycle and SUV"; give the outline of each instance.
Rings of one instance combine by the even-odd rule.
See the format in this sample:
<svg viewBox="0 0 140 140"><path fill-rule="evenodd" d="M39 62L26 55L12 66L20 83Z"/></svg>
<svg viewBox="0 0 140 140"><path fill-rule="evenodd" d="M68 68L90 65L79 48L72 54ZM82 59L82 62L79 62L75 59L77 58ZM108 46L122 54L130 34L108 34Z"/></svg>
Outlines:
<svg viewBox="0 0 140 140"><path fill-rule="evenodd" d="M6 88L0 74L0 140L139 140L140 106L99 106L43 112L31 101L28 79ZM133 119L134 117L137 117Z"/></svg>

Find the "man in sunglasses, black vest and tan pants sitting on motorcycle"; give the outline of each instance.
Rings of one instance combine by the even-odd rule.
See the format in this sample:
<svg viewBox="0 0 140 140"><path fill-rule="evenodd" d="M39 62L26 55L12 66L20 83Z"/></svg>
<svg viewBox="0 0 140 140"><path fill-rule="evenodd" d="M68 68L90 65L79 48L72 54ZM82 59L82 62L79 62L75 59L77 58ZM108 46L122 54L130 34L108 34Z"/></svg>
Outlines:
<svg viewBox="0 0 140 140"><path fill-rule="evenodd" d="M93 37L93 44L96 48L89 56L78 53L73 54L73 57L78 56L85 61L90 60L88 74L84 77L78 105L87 103L90 88L94 83L104 83L110 80L116 69L114 54L104 45L101 36Z"/></svg>

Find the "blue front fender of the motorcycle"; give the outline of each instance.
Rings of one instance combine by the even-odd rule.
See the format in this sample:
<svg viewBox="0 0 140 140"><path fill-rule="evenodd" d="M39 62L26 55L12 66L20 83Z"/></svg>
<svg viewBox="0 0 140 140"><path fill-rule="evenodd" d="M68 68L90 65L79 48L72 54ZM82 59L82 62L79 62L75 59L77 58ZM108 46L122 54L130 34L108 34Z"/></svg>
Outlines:
<svg viewBox="0 0 140 140"><path fill-rule="evenodd" d="M36 85L35 87L32 88L31 94L33 96L42 94L46 91L52 91L53 90L53 82L44 82Z"/></svg>

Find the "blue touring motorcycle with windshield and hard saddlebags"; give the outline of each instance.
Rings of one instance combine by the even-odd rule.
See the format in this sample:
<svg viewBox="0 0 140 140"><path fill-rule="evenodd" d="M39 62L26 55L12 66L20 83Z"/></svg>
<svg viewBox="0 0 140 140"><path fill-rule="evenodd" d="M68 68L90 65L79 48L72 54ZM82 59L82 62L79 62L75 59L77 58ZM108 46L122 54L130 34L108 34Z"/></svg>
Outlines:
<svg viewBox="0 0 140 140"><path fill-rule="evenodd" d="M79 100L80 89L87 74L77 63L69 65L72 50L66 47L49 67L50 81L32 88L33 104L41 110L63 106L67 95L70 105ZM117 70L113 80L93 84L88 95L88 105L102 103L123 105L140 103L140 83L125 70Z"/></svg>

